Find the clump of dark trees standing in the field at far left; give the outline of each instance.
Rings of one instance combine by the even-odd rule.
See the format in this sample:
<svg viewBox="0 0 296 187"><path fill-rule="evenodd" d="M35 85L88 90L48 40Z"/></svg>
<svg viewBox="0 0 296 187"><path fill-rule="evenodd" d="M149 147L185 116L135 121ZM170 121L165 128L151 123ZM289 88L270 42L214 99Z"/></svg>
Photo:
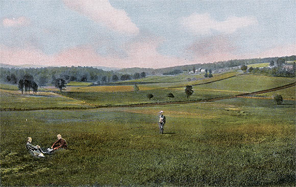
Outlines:
<svg viewBox="0 0 296 187"><path fill-rule="evenodd" d="M33 90L33 94L36 94L37 91L38 91L38 85L34 81L33 76L30 75L30 74L24 75L23 78L18 81L17 87L21 91L21 94L23 94L23 89L24 89L24 91L25 91L26 94L28 92L30 94L31 88Z"/></svg>

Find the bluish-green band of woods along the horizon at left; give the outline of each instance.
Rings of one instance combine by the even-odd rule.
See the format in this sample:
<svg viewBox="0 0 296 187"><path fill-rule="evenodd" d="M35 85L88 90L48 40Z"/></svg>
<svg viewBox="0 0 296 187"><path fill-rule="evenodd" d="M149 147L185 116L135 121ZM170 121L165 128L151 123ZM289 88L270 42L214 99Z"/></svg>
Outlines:
<svg viewBox="0 0 296 187"><path fill-rule="evenodd" d="M96 82L97 84L105 84L118 80L130 80L146 77L146 73L118 74L113 71L104 71L92 67L46 67L46 68L0 68L0 81L17 84L26 74L35 77L35 81L39 86L45 86L48 83L55 84L55 80L61 78L67 82Z"/></svg>

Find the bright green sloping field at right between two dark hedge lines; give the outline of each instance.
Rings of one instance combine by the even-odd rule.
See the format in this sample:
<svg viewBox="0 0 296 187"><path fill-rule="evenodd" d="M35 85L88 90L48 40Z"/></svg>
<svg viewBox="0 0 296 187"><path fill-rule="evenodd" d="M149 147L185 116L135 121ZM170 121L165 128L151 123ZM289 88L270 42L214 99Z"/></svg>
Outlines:
<svg viewBox="0 0 296 187"><path fill-rule="evenodd" d="M282 86L294 81L294 78L267 77L247 74L210 84L193 86L193 88L253 92Z"/></svg>

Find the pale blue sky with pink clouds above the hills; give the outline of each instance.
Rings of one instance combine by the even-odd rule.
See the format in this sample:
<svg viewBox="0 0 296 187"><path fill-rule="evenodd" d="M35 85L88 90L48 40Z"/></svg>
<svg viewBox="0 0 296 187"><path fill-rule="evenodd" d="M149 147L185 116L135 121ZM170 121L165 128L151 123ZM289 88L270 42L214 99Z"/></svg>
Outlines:
<svg viewBox="0 0 296 187"><path fill-rule="evenodd" d="M0 0L0 63L164 68L296 54L296 1Z"/></svg>

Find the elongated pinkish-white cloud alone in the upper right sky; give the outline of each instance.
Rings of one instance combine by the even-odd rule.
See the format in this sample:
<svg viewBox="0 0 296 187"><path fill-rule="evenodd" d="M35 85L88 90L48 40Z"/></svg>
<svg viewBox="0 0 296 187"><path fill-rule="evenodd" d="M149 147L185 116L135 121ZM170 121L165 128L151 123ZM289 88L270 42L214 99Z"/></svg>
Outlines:
<svg viewBox="0 0 296 187"><path fill-rule="evenodd" d="M193 13L189 17L181 20L183 26L188 28L190 32L200 35L212 33L213 30L218 32L231 34L237 29L257 24L255 17L229 17L225 21L217 21L209 14Z"/></svg>

